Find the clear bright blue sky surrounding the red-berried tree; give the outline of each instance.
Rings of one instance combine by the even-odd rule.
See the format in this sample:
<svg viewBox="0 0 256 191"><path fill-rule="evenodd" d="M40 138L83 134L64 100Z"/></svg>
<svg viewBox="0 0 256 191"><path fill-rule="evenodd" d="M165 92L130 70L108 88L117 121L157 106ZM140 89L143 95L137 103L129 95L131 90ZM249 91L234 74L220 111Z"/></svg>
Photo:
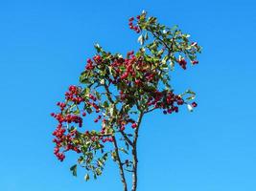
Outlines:
<svg viewBox="0 0 256 191"><path fill-rule="evenodd" d="M72 177L73 159L53 155L49 114L95 42L121 53L136 45L127 20L142 10L191 33L203 53L173 80L198 93L197 111L143 121L138 191L256 190L253 0L0 1L0 190L122 190L112 162L99 180Z"/></svg>

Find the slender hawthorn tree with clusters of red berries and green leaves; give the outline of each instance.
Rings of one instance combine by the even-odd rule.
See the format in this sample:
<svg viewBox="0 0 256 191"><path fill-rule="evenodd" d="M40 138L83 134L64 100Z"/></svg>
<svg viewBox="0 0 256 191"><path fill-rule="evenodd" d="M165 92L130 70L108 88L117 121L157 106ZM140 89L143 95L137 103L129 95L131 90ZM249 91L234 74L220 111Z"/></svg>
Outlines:
<svg viewBox="0 0 256 191"><path fill-rule="evenodd" d="M176 64L184 70L187 62L198 64L201 48L189 40L189 34L159 24L145 11L129 18L128 26L139 33L138 51L123 56L96 44L97 53L87 59L81 84L68 88L65 100L57 104L60 111L51 115L58 120L54 154L60 161L68 151L78 154L70 168L74 176L80 166L86 170L85 180L97 179L111 158L118 165L123 190L128 190L126 175L131 173L131 190L136 191L142 119L154 110L169 115L178 113L181 105L190 111L197 107L191 90L175 94L170 75ZM95 130L82 128L90 118L98 125Z"/></svg>

